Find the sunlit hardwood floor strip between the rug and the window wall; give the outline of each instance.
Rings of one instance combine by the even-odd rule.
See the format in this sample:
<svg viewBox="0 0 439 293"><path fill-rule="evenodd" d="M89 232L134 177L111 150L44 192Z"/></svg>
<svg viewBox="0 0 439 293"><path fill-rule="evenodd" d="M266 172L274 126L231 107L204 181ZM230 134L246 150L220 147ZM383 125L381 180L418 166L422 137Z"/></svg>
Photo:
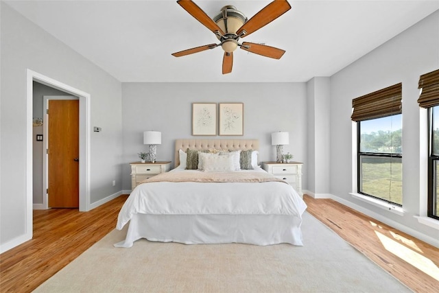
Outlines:
<svg viewBox="0 0 439 293"><path fill-rule="evenodd" d="M303 199L311 215L414 292L438 292L438 248L335 200L307 195Z"/></svg>

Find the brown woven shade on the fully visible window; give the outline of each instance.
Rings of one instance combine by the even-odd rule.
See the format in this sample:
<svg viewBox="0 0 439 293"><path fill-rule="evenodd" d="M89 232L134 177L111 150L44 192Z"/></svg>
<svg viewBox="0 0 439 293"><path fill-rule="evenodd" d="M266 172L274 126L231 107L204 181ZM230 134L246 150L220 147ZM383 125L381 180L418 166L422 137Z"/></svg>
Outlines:
<svg viewBox="0 0 439 293"><path fill-rule="evenodd" d="M401 114L402 89L403 85L400 82L353 99L352 107L354 110L351 119L363 121Z"/></svg>

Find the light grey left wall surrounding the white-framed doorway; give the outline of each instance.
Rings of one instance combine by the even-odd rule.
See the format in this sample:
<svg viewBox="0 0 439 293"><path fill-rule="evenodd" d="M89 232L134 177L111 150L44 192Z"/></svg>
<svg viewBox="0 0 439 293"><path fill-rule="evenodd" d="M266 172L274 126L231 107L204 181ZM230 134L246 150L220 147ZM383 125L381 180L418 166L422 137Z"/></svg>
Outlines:
<svg viewBox="0 0 439 293"><path fill-rule="evenodd" d="M23 242L26 221L26 71L91 95L91 203L121 190L121 83L7 4L1 5L0 244ZM32 160L32 158L29 158ZM112 187L112 180L117 185ZM32 197L32 194L30 195ZM32 234L32 231L31 231ZM17 240L19 239L19 240Z"/></svg>

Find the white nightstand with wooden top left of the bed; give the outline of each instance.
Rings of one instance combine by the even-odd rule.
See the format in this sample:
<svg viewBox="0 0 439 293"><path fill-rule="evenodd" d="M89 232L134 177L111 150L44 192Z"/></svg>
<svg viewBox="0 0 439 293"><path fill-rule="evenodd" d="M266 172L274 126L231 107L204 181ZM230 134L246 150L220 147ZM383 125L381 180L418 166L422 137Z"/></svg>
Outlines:
<svg viewBox="0 0 439 293"><path fill-rule="evenodd" d="M171 162L141 163L134 162L131 165L131 189L136 188L143 180L151 178L171 169Z"/></svg>

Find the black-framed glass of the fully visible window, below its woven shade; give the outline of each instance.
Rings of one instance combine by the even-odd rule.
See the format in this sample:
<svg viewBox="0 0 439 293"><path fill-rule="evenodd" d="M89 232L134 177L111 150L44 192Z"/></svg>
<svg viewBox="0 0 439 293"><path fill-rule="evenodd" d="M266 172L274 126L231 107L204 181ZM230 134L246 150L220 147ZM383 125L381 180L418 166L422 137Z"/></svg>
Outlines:
<svg viewBox="0 0 439 293"><path fill-rule="evenodd" d="M401 114L357 122L358 192L402 206Z"/></svg>

